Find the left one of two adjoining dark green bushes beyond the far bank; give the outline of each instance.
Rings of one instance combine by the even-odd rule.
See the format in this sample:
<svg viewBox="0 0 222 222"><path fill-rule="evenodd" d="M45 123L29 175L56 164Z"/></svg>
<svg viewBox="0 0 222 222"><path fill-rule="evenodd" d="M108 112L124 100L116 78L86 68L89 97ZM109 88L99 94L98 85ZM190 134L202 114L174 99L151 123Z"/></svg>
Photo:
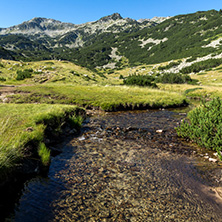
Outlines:
<svg viewBox="0 0 222 222"><path fill-rule="evenodd" d="M152 88L157 88L156 83L154 83L154 78L146 75L130 75L123 80L123 83L125 85L149 86Z"/></svg>

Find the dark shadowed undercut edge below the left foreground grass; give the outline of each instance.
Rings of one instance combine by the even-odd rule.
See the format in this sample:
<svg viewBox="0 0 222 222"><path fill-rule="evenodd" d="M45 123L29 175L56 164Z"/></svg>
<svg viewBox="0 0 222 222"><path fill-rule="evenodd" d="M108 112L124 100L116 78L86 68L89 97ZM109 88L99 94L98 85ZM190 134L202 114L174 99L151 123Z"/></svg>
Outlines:
<svg viewBox="0 0 222 222"><path fill-rule="evenodd" d="M46 165L42 163L41 156L38 155L38 147L40 143L44 143L47 146L47 149L50 150L50 155L55 155L57 152L56 150L53 150L53 144L57 144L61 142L65 136L70 135L78 135L80 132L80 127L78 125L73 126L69 122L70 116L76 116L77 118L80 117L84 119L86 117L86 111L85 109L81 107L76 107L71 112L64 112L64 121L62 126L59 126L61 124L59 120L57 119L56 122L49 121L45 122L45 130L43 132L43 141L35 141L35 140L29 140L25 146L25 155L23 158L19 159L15 166L12 167L12 169L8 169L6 172L7 176L3 176L0 178L0 189L5 190L8 189L8 187L11 187L11 184L15 184L19 181L25 181L28 178L32 178L33 176L41 175L41 174L47 174L50 162ZM60 132L54 132L54 129L61 127ZM29 127L32 129L32 127Z"/></svg>

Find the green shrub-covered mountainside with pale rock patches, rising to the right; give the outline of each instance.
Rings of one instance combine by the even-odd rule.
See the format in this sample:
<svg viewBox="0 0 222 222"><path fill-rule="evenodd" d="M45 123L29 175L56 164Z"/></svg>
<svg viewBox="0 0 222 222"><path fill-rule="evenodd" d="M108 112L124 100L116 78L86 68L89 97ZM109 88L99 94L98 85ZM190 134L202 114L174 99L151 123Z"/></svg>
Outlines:
<svg viewBox="0 0 222 222"><path fill-rule="evenodd" d="M222 14L211 10L170 18L154 27L131 33L103 33L91 41L90 45L77 52L70 51L73 59L89 67L107 67L116 63L123 66L152 64L192 57L220 55L222 53ZM107 47L109 47L107 49ZM115 48L122 60L111 57Z"/></svg>

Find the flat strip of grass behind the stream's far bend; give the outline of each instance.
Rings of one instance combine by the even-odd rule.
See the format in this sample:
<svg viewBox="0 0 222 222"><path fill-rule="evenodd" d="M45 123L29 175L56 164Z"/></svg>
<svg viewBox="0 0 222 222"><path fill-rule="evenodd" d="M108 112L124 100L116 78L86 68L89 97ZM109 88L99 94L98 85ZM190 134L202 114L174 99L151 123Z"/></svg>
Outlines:
<svg viewBox="0 0 222 222"><path fill-rule="evenodd" d="M13 103L77 104L100 107L105 111L125 108L160 108L184 104L185 96L147 87L44 84L19 88Z"/></svg>

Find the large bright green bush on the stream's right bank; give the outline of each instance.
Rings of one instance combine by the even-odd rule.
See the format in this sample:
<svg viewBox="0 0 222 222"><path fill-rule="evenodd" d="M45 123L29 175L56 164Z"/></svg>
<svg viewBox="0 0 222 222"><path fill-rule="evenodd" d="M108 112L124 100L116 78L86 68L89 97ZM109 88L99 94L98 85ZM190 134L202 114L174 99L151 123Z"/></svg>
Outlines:
<svg viewBox="0 0 222 222"><path fill-rule="evenodd" d="M188 113L188 120L176 129L178 136L189 138L200 146L222 150L222 101L214 98Z"/></svg>

